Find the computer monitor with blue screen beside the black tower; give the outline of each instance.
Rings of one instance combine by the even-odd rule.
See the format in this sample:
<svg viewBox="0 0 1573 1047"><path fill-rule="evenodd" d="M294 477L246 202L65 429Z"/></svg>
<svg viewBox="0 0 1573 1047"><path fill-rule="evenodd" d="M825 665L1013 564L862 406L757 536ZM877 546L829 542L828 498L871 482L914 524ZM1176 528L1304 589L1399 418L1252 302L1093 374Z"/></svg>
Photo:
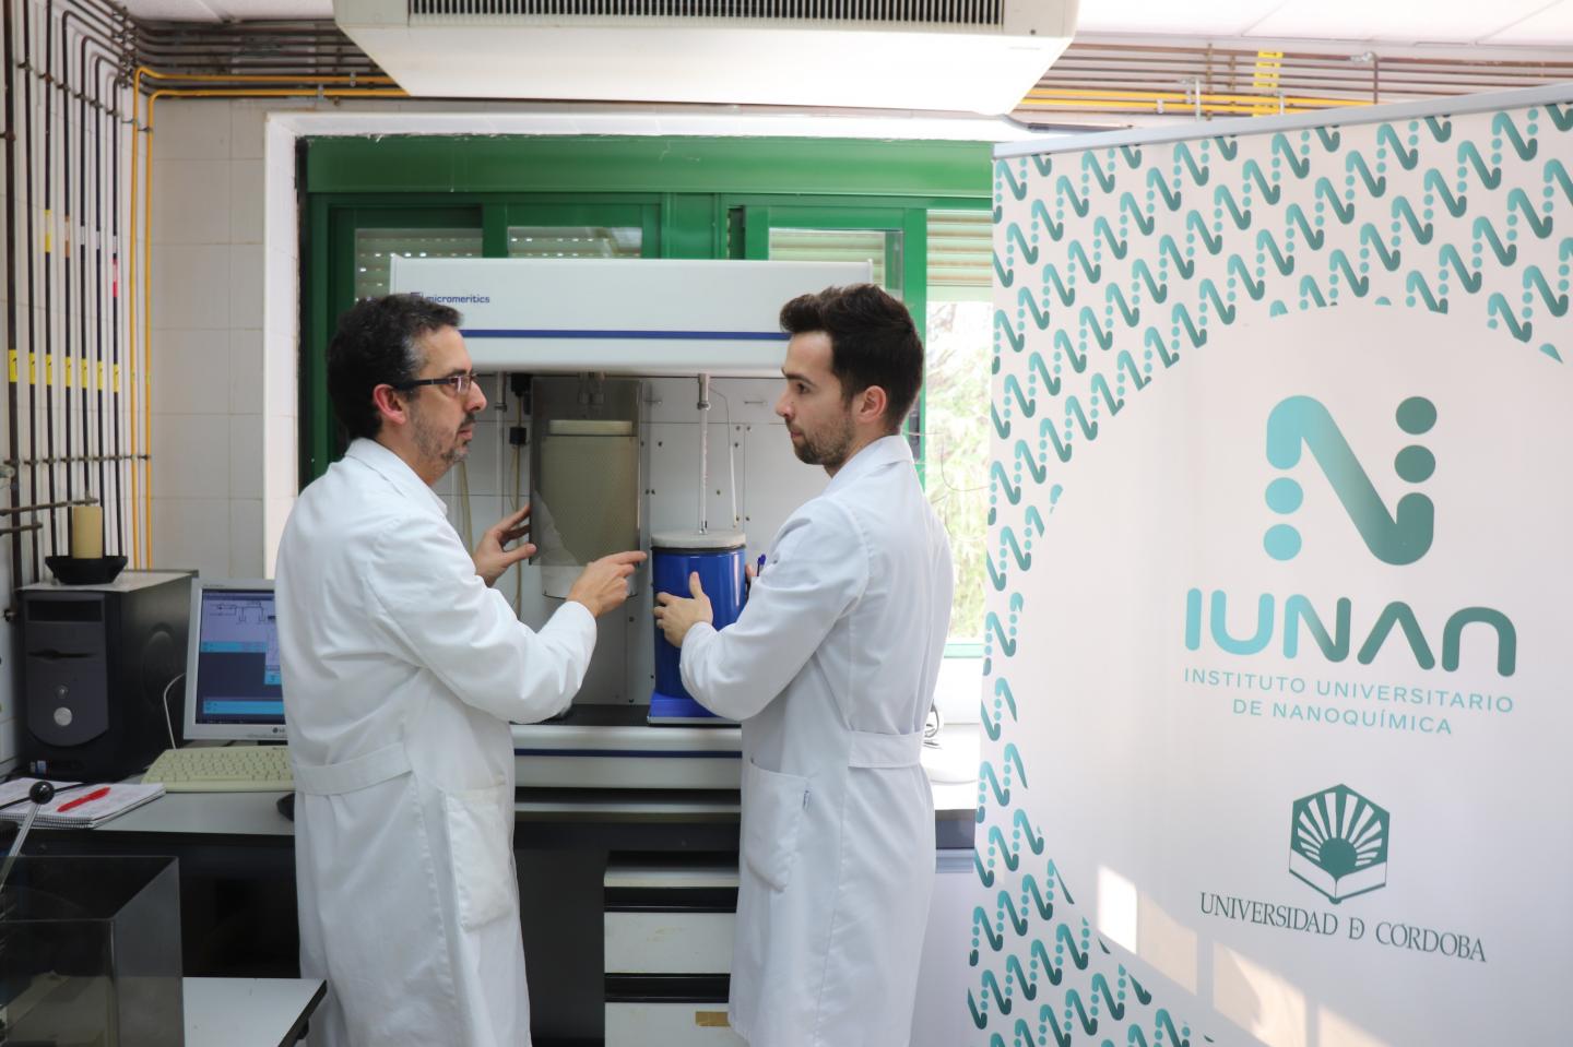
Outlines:
<svg viewBox="0 0 1573 1047"><path fill-rule="evenodd" d="M285 740L274 583L193 580L187 637L187 740Z"/></svg>

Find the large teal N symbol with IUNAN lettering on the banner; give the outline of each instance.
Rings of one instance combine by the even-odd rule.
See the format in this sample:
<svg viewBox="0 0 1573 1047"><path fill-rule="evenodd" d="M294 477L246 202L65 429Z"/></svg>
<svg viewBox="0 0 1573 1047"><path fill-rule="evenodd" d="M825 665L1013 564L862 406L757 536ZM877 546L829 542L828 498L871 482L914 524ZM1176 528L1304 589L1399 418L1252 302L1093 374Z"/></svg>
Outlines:
<svg viewBox="0 0 1573 1047"><path fill-rule="evenodd" d="M1414 437L1430 432L1436 424L1436 406L1424 396L1405 399L1395 413L1398 428ZM1332 420L1332 413L1318 399L1290 396L1268 412L1268 464L1280 472L1295 468L1301 461L1301 448L1310 450L1372 555L1386 564L1408 566L1430 552L1436 528L1436 506L1430 495L1416 490L1406 492L1398 498L1394 512L1389 514L1370 475ZM1420 484L1436 472L1436 456L1428 448L1413 443L1398 451L1394 459L1394 472L1405 483ZM1266 487L1268 508L1282 517L1296 512L1304 497L1299 481L1290 476L1279 475ZM1290 524L1269 527L1263 539L1268 555L1280 563L1299 555L1302 544L1299 528ZM1397 634L1402 637L1402 643L1409 648L1416 667L1435 668L1435 649L1439 646L1442 668L1452 673L1458 670L1464 627L1479 626L1496 634L1497 674L1512 676L1518 663L1518 634L1513 623L1509 621L1507 615L1491 607L1457 610L1442 624L1441 635L1433 634L1428 638L1414 608L1403 601L1391 601L1375 618L1369 615L1361 618L1365 640L1359 648L1354 648L1356 615L1354 601L1350 597L1334 601L1329 616L1324 615L1329 610L1326 605L1317 610L1306 596L1290 594L1280 599L1271 593L1262 593L1255 601L1257 626L1249 637L1235 637L1229 632L1229 599L1230 594L1224 590L1213 590L1206 601L1203 601L1200 588L1186 591L1184 643L1188 649L1200 651L1206 635L1218 649L1247 656L1265 651L1274 638L1279 638L1284 657L1293 659L1301 651L1301 634L1307 634L1329 662L1343 662L1353 649L1361 665L1370 665ZM1328 627L1329 621L1331 629ZM1369 629L1364 624L1367 621L1370 623Z"/></svg>

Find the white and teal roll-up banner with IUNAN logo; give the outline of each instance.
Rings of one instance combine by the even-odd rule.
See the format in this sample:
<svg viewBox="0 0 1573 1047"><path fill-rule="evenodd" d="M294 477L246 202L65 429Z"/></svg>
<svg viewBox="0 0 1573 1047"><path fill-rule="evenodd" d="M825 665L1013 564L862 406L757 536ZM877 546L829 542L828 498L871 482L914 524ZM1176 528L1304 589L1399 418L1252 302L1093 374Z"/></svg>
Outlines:
<svg viewBox="0 0 1573 1047"><path fill-rule="evenodd" d="M974 1042L1567 1042L1573 85L994 162Z"/></svg>

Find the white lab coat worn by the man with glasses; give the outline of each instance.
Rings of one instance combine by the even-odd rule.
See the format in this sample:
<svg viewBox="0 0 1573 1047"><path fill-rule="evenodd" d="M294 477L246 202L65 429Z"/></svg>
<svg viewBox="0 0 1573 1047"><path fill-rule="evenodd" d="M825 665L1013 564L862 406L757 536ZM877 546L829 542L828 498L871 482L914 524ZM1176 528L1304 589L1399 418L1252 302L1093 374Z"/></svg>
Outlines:
<svg viewBox="0 0 1573 1047"><path fill-rule="evenodd" d="M508 722L573 700L595 618L530 632L371 440L300 494L277 607L313 1044L527 1045Z"/></svg>

